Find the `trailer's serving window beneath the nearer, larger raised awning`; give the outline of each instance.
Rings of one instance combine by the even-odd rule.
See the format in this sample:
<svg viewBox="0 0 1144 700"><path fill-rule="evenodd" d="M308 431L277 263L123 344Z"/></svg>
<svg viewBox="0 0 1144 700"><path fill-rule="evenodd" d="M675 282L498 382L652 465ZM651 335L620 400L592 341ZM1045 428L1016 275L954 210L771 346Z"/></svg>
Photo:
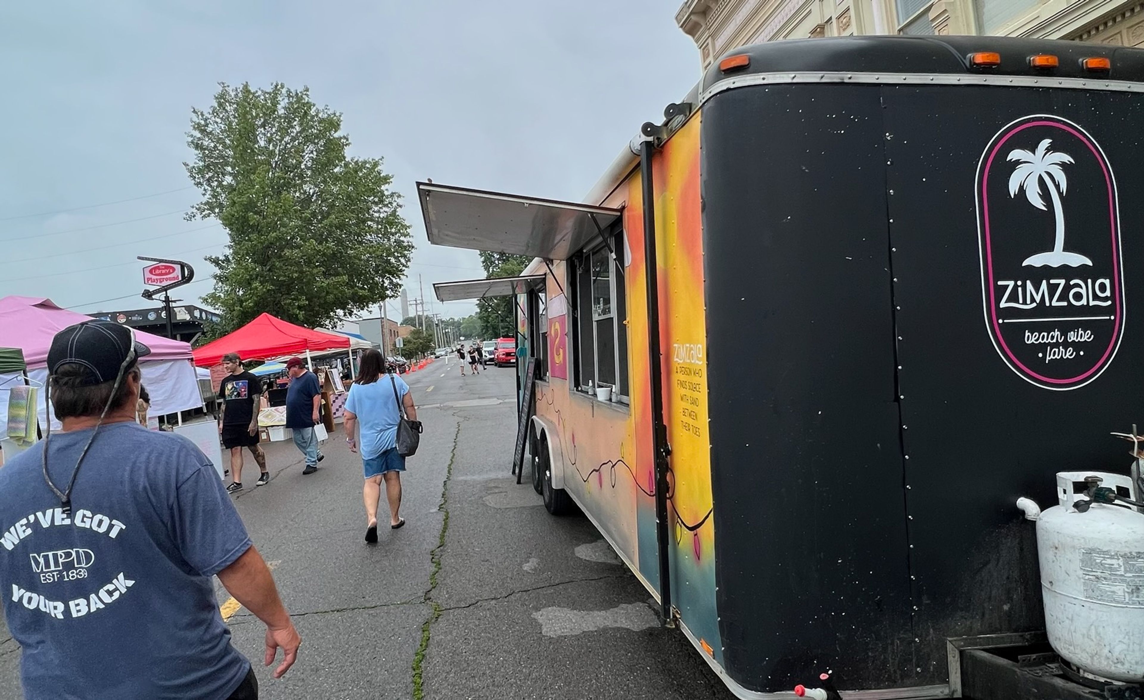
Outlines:
<svg viewBox="0 0 1144 700"><path fill-rule="evenodd" d="M577 389L591 392L597 385L612 387L623 403L628 397L627 299L622 256L622 232L612 233L609 245L598 245L573 258L575 270Z"/></svg>

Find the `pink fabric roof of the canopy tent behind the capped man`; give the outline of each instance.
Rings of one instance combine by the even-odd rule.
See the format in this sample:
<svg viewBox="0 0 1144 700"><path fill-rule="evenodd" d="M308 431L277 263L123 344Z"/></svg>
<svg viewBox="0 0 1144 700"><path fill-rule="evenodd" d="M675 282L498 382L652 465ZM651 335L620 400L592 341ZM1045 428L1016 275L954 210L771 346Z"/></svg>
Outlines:
<svg viewBox="0 0 1144 700"><path fill-rule="evenodd" d="M67 326L92 320L67 309L61 309L42 296L6 296L0 299L0 347L21 348L29 369L45 367L51 337ZM190 359L191 345L137 331L136 337L151 349L146 361Z"/></svg>

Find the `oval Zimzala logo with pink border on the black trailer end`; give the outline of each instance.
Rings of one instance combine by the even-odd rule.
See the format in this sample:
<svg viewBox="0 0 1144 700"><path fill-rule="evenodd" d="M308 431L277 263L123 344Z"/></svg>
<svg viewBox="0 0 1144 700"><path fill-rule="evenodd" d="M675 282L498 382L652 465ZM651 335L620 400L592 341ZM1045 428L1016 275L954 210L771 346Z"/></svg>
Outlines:
<svg viewBox="0 0 1144 700"><path fill-rule="evenodd" d="M1094 381L1125 320L1115 177L1059 117L1006 125L977 170L985 324L1010 369L1044 389Z"/></svg>

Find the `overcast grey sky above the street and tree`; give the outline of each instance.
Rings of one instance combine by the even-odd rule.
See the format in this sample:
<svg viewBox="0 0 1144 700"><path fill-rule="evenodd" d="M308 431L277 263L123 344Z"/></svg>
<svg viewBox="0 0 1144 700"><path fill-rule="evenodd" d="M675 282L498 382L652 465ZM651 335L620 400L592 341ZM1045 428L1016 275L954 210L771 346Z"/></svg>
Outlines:
<svg viewBox="0 0 1144 700"><path fill-rule="evenodd" d="M220 81L309 86L350 153L381 157L416 252L405 286L483 277L430 247L414 183L581 200L644 121L699 79L678 0L202 0L0 6L0 296L82 312L149 307L136 255L222 250L182 162ZM132 200L132 201L121 201ZM80 208L88 205L108 206ZM76 210L66 210L76 209ZM177 296L198 303L196 281ZM471 303L435 303L466 316ZM395 307L391 307L391 313Z"/></svg>

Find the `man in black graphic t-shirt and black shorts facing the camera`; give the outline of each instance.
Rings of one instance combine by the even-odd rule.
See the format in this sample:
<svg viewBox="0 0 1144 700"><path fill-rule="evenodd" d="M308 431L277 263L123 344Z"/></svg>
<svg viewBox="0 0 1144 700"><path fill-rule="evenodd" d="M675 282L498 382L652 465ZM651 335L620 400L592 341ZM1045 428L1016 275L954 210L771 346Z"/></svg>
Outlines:
<svg viewBox="0 0 1144 700"><path fill-rule="evenodd" d="M227 491L235 493L243 490L243 447L251 450L262 471L254 485L262 486L270 482L267 455L259 445L262 383L259 377L243 369L243 361L237 352L224 355L222 366L230 374L219 385L219 397L222 399L219 432L222 433L223 447L230 450L230 472L235 479Z"/></svg>

